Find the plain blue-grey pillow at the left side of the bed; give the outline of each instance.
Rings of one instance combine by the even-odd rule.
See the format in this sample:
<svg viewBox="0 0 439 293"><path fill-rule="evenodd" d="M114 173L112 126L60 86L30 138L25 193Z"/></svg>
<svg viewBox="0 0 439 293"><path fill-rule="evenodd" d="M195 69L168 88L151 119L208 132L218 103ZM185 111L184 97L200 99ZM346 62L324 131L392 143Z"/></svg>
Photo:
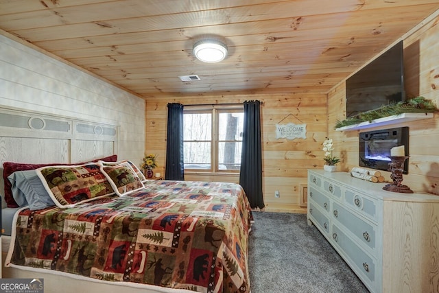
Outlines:
<svg viewBox="0 0 439 293"><path fill-rule="evenodd" d="M29 210L36 211L55 205L35 170L16 171L8 180L12 184L12 196L20 207L28 205Z"/></svg>

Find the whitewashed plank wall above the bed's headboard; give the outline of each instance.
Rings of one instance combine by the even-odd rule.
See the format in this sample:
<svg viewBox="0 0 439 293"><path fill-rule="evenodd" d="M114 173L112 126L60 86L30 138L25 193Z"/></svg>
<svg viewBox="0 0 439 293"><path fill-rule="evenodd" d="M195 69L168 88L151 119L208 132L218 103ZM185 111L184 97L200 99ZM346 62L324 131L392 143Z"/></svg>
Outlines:
<svg viewBox="0 0 439 293"><path fill-rule="evenodd" d="M0 68L1 106L117 125L119 158L141 163L145 146L144 99L3 31ZM38 162L38 157L24 160L49 163Z"/></svg>

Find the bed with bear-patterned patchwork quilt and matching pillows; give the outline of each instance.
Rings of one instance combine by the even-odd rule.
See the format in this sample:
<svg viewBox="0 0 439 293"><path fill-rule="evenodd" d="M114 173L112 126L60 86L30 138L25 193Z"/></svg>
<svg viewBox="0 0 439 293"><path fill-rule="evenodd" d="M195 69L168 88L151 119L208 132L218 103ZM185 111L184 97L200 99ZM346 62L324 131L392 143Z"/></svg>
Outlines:
<svg viewBox="0 0 439 293"><path fill-rule="evenodd" d="M98 138L116 137L96 127ZM12 189L28 171L24 181L32 173L49 200L17 187L25 204L2 210L13 215L9 225L2 216L11 234L2 236L3 278L43 278L45 292L250 292L252 215L239 185L146 180L135 164L108 154L116 138L86 136L109 156L8 170Z"/></svg>

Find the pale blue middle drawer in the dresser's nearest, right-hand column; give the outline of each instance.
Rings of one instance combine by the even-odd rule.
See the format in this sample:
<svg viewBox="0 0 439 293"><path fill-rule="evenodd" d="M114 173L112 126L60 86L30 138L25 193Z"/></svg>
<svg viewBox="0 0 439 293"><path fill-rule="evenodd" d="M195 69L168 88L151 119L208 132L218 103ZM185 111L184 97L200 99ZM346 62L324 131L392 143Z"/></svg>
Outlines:
<svg viewBox="0 0 439 293"><path fill-rule="evenodd" d="M356 215L344 209L337 202L333 202L332 214L335 219L337 219L340 224L345 226L349 231L351 231L359 241L366 246L376 249L377 241L377 226L375 224L369 224L368 222L361 220Z"/></svg>

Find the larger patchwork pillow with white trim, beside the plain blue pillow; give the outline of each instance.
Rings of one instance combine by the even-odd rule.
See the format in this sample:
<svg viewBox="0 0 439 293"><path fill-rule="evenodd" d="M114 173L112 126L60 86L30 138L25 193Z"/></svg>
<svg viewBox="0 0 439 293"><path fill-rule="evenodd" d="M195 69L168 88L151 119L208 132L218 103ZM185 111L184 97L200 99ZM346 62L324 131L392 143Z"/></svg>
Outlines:
<svg viewBox="0 0 439 293"><path fill-rule="evenodd" d="M69 208L114 194L100 167L99 163L41 167L36 169L36 174L55 204Z"/></svg>

